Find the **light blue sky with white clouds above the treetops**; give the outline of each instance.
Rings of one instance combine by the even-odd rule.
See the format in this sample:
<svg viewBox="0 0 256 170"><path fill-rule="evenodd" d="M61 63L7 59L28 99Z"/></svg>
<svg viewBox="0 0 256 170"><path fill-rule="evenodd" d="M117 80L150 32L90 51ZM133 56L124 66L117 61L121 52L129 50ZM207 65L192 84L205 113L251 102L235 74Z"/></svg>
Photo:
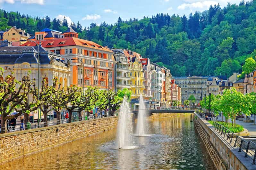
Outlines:
<svg viewBox="0 0 256 170"><path fill-rule="evenodd" d="M99 25L103 21L114 24L120 16L123 20L141 19L157 13L179 16L190 12L203 12L210 4L239 4L240 0L0 0L0 8L6 11L18 11L31 16L49 16L68 22L79 21L83 27L90 23Z"/></svg>

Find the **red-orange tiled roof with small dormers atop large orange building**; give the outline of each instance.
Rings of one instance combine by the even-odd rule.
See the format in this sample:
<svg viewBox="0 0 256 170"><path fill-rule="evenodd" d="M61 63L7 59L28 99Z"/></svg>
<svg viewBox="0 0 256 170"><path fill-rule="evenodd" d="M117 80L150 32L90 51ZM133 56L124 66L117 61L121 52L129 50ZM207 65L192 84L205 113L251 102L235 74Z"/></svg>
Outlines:
<svg viewBox="0 0 256 170"><path fill-rule="evenodd" d="M39 43L39 41L36 41L36 42ZM60 44L61 42L63 42L64 44ZM48 45L49 43L51 43L52 45ZM85 45L85 43L87 45ZM94 43L94 42L88 41L88 40L84 40L84 39L80 39L80 38L75 38L75 37L65 37L65 38L41 40L41 45L45 48L79 45L79 46L84 46L84 47L102 50L102 51L106 51L106 52L112 52L111 50L109 50L101 45L98 45L97 43ZM92 45L94 45L95 47L93 47ZM36 44L34 42L29 41L20 46L36 46Z"/></svg>

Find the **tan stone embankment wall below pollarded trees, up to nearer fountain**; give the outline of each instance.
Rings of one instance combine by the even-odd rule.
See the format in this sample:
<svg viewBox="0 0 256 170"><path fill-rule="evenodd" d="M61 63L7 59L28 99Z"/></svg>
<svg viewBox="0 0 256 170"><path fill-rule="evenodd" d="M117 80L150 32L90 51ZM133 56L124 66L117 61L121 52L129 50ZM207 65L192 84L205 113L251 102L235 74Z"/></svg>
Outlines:
<svg viewBox="0 0 256 170"><path fill-rule="evenodd" d="M72 142L117 126L118 117L105 117L0 135L0 163Z"/></svg>

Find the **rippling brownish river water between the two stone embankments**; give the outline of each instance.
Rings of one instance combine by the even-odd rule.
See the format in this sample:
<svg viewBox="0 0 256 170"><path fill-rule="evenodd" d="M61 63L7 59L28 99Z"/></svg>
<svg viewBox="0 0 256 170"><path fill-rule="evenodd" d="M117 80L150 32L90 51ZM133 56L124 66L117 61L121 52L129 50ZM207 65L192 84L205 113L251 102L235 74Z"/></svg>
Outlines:
<svg viewBox="0 0 256 170"><path fill-rule="evenodd" d="M1 169L215 169L192 115L150 120L136 150L115 150L116 129L0 165ZM136 127L136 125L134 125Z"/></svg>

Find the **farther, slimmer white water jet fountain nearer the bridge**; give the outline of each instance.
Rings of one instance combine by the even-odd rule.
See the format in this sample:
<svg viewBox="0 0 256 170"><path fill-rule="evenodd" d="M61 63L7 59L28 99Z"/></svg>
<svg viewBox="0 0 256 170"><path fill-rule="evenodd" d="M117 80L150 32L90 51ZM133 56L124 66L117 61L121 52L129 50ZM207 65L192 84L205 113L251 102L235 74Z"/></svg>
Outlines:
<svg viewBox="0 0 256 170"><path fill-rule="evenodd" d="M149 134L145 133L147 128L147 114L146 114L146 106L143 101L142 95L140 95L140 105L139 111L137 115L137 126L136 126L136 134L135 136L150 136Z"/></svg>

